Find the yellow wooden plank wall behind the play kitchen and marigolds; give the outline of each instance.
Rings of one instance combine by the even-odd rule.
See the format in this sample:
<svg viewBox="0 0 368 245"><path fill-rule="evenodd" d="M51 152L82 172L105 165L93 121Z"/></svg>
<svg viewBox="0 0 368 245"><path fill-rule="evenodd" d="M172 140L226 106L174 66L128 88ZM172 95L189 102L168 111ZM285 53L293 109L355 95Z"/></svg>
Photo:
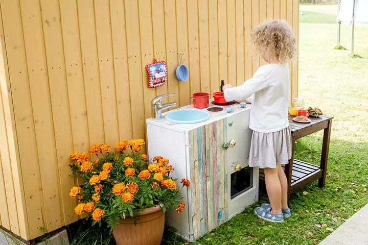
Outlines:
<svg viewBox="0 0 368 245"><path fill-rule="evenodd" d="M298 0L0 0L0 225L24 239L78 219L68 156L90 144L144 138L151 99L191 103L260 64L248 38L266 18L298 35ZM178 82L178 53L189 80ZM147 88L165 60L168 83ZM297 63L291 70L297 94ZM291 97L292 97L291 96Z"/></svg>

